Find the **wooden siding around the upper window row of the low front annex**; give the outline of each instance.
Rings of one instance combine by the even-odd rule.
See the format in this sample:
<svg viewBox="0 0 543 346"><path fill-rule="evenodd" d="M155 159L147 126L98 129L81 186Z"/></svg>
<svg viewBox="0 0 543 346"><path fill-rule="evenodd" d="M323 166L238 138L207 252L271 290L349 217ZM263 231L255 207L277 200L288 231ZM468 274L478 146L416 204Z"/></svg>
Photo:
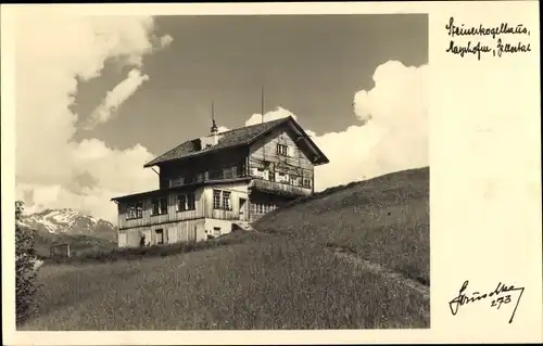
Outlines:
<svg viewBox="0 0 543 346"><path fill-rule="evenodd" d="M119 202L118 203L118 228L132 228L143 227L149 225L162 225L187 219L198 219L204 217L204 200L203 188L197 188L187 192L165 192L164 197L167 198L167 214L152 215L153 198L144 198L140 201ZM194 209L186 212L177 212L177 196L179 194L194 193ZM134 202L141 202L143 204L143 213L140 218L127 219L127 205Z"/></svg>

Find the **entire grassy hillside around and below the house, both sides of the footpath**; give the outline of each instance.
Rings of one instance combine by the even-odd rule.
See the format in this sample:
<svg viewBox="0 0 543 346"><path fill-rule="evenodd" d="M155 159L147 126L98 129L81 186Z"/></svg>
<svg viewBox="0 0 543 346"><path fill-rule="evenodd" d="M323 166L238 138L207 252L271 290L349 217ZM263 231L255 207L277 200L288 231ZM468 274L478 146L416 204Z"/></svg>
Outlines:
<svg viewBox="0 0 543 346"><path fill-rule="evenodd" d="M427 297L328 251L426 282L428 218L428 169L419 169L301 201L219 247L50 264L23 330L428 328Z"/></svg>

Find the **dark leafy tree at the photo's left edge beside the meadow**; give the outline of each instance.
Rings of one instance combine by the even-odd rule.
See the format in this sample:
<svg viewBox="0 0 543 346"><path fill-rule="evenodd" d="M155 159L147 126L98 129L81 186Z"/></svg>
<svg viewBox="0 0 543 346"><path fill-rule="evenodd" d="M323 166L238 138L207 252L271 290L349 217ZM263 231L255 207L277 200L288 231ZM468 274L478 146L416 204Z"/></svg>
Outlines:
<svg viewBox="0 0 543 346"><path fill-rule="evenodd" d="M23 228L21 218L24 203L15 202L15 313L16 322L25 321L35 308L36 256L34 252L34 231Z"/></svg>

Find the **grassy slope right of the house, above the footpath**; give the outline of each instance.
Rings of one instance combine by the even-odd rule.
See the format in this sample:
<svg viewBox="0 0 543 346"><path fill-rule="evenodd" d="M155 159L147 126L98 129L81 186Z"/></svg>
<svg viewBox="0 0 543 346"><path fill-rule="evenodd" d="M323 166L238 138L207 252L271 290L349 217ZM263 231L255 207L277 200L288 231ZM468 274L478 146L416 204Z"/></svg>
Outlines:
<svg viewBox="0 0 543 346"><path fill-rule="evenodd" d="M350 249L429 284L429 168L337 187L266 215L262 231Z"/></svg>

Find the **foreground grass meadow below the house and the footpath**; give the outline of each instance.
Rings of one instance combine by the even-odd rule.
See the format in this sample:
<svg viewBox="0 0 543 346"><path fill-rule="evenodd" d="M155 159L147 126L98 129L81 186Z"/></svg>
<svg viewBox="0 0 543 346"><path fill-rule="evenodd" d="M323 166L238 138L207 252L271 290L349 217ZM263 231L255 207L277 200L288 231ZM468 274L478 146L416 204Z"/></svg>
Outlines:
<svg viewBox="0 0 543 346"><path fill-rule="evenodd" d="M49 289L24 330L427 326L416 293L282 238L39 275Z"/></svg>

